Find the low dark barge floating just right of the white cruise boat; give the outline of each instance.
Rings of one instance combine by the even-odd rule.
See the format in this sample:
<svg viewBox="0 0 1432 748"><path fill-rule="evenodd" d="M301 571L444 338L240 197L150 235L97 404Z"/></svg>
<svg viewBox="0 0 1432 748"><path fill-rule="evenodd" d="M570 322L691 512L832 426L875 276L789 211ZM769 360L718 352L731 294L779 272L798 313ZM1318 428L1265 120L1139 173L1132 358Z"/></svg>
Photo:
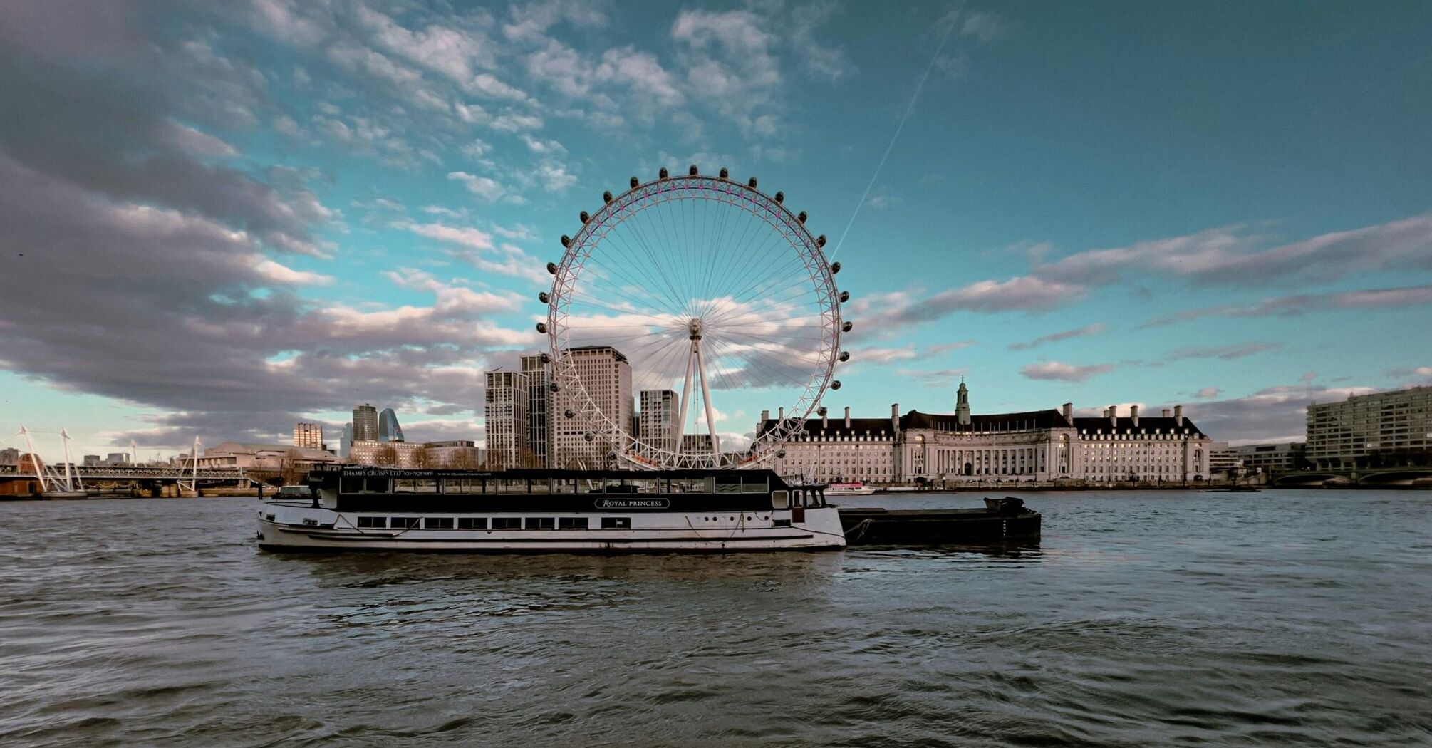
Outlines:
<svg viewBox="0 0 1432 748"><path fill-rule="evenodd" d="M985 499L984 509L841 507L851 546L1035 545L1040 523L1040 513L1014 496Z"/></svg>

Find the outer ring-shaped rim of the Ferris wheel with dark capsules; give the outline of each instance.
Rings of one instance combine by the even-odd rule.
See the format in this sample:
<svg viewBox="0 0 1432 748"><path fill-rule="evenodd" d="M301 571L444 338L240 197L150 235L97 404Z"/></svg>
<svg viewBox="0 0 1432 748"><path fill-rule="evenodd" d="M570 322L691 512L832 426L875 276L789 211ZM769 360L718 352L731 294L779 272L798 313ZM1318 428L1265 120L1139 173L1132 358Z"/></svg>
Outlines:
<svg viewBox="0 0 1432 748"><path fill-rule="evenodd" d="M833 380L835 365L846 355L839 350L841 332L843 331L841 295L835 284L839 264L832 265L826 259L822 252L825 238L818 239L805 226L805 214L796 215L786 208L780 193L773 198L759 191L755 179L749 183L740 183L727 179L725 173L723 169L723 176L699 175L693 166L690 175L682 176L666 176L663 169L662 178L646 183L633 178L633 186L623 193L617 196L610 192L604 193L603 205L596 214L589 216L583 212L583 225L577 234L571 238L563 236L566 251L561 261L548 264L548 271L554 278L551 294L544 299L548 307L544 332L548 338L554 387L570 390L570 400L580 410L584 423L589 427L596 426L596 428L587 430L587 441L594 441L597 434L607 443L614 443L614 437L624 437L627 443L613 451L636 467L719 467L725 463L722 454L686 453L682 451L682 444L666 449L627 434L624 424L614 423L609 414L597 407L581 383L574 357L567 355L569 351L577 348L571 342L573 327L569 324L569 314L573 291L579 287L587 261L609 234L647 209L673 201L710 201L745 211L763 221L785 239L788 248L782 251L793 251L798 255L812 284L811 297L815 299L815 310L819 314L822 341L818 351L819 361L812 367L806 383L798 387L799 394L789 407L789 416L776 420L770 428L766 428L765 423L758 426L748 457L733 467L756 467L769 463L780 444L803 430L806 420L816 411L832 383L835 388L839 388L839 383ZM848 330L849 325L843 327ZM569 408L566 413L554 411L553 417L573 418L576 414L573 408ZM715 434L715 424L709 424L709 428Z"/></svg>

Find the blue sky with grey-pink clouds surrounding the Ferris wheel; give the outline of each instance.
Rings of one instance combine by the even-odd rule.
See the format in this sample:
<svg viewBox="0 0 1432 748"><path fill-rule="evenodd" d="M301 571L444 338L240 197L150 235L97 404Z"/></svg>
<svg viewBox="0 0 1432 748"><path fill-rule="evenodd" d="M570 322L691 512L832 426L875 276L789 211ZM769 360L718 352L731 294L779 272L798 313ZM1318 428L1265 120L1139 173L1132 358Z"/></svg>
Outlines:
<svg viewBox="0 0 1432 748"><path fill-rule="evenodd" d="M481 438L577 212L697 163L828 252L859 206L836 411L964 375L984 413L1296 437L1432 381L1429 37L1425 3L10 3L0 430L173 449L371 401ZM779 404L722 397L732 434Z"/></svg>

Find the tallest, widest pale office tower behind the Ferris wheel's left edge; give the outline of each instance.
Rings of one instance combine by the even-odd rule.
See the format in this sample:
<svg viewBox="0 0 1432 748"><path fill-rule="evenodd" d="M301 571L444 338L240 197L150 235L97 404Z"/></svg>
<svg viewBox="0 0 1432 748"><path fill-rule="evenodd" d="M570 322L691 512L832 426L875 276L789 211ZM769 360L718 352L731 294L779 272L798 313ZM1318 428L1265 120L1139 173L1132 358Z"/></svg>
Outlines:
<svg viewBox="0 0 1432 748"><path fill-rule="evenodd" d="M597 420L614 424L617 434L604 434L609 427L583 418L581 406L570 388L558 390L557 397L551 400L553 467L579 464L606 467L607 457L626 450L630 441L627 431L632 428L632 364L621 351L610 345L570 348L564 355L571 358L583 391L603 416ZM573 410L577 416L567 418L567 410Z"/></svg>

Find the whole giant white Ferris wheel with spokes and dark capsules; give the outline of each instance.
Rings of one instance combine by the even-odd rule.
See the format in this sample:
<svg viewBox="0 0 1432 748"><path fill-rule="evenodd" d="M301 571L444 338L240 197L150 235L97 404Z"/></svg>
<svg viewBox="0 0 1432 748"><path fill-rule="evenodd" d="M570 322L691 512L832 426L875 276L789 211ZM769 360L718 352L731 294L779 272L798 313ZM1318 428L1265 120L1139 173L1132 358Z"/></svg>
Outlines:
<svg viewBox="0 0 1432 748"><path fill-rule="evenodd" d="M821 411L826 390L839 390L839 262L828 262L825 236L806 229L806 214L766 195L756 178L739 182L726 169L656 181L636 176L630 189L603 195L581 226L563 236L560 262L548 262L553 285L538 298L537 324L550 345L554 428L581 431L610 444L630 467L758 467ZM647 413L620 423L611 394L571 351L610 347L630 365L630 393ZM749 449L722 444L743 430L735 393L778 406L782 416L758 431ZM656 413L650 413L652 410ZM753 418L750 418L753 420ZM745 423L750 423L746 420ZM736 447L736 449L730 449Z"/></svg>

